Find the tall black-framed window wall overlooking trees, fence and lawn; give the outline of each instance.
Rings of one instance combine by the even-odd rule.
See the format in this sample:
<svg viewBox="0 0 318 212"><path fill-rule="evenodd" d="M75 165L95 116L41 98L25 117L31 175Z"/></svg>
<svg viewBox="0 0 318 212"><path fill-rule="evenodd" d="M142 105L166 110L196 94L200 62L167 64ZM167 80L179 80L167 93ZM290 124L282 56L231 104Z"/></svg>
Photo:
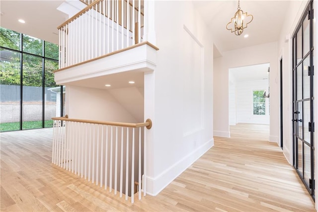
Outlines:
<svg viewBox="0 0 318 212"><path fill-rule="evenodd" d="M0 27L0 131L52 127L63 115L58 45Z"/></svg>

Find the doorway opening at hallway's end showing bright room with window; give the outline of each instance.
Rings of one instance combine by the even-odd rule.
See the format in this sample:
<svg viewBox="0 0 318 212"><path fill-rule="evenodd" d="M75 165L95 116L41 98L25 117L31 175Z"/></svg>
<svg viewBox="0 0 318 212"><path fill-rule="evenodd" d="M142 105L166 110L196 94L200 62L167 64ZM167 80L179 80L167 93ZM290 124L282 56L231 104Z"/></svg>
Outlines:
<svg viewBox="0 0 318 212"><path fill-rule="evenodd" d="M229 124L259 125L269 135L269 68L258 64L229 69ZM269 136L267 137L269 140Z"/></svg>

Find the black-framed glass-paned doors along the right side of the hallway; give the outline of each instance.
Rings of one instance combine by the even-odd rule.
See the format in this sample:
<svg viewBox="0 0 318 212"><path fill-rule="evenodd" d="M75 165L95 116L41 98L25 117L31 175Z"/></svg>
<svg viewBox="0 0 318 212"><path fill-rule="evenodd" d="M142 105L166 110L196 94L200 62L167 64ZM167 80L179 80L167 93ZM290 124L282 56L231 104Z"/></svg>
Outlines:
<svg viewBox="0 0 318 212"><path fill-rule="evenodd" d="M313 0L293 35L294 167L315 195Z"/></svg>

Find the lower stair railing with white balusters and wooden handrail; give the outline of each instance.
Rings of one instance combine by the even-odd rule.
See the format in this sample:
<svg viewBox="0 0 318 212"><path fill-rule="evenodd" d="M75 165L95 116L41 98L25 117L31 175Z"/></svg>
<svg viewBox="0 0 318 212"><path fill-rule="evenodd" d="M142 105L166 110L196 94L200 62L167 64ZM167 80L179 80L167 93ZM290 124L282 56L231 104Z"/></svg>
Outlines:
<svg viewBox="0 0 318 212"><path fill-rule="evenodd" d="M142 123L53 117L52 163L105 190L130 197L146 196L146 129ZM136 145L137 142L137 145ZM135 190L135 182L142 185Z"/></svg>

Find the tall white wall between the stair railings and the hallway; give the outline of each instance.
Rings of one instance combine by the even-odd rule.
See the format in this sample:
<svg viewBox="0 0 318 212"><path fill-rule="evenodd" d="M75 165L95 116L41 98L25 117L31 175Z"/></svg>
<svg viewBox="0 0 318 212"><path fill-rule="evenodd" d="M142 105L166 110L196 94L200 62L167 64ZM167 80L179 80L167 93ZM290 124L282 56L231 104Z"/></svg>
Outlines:
<svg viewBox="0 0 318 212"><path fill-rule="evenodd" d="M191 1L154 4L157 68L145 75L145 117L153 120L147 131L151 195L213 145L211 34Z"/></svg>

